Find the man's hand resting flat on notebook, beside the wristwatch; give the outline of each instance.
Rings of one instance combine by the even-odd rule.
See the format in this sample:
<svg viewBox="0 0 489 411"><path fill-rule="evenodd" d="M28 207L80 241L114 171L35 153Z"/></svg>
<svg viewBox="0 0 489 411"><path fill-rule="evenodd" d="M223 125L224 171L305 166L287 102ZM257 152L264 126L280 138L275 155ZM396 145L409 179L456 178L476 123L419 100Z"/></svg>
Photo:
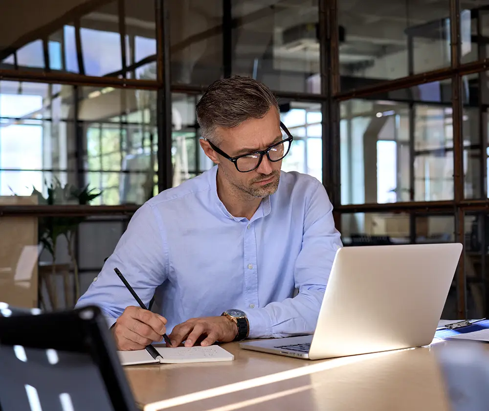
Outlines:
<svg viewBox="0 0 489 411"><path fill-rule="evenodd" d="M172 347L178 347L185 341L186 347L192 347L198 340L204 338L200 345L212 345L216 341L231 342L238 334L236 323L227 317L192 318L175 326L168 336Z"/></svg>

